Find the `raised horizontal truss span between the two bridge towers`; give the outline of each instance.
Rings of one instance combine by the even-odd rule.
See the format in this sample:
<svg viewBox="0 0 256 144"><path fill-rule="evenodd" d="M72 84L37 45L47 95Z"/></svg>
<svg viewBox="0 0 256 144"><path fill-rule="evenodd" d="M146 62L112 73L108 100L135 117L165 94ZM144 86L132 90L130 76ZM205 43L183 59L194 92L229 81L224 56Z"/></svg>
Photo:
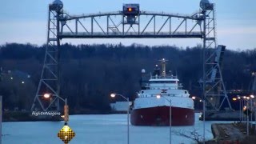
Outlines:
<svg viewBox="0 0 256 144"><path fill-rule="evenodd" d="M62 13L59 38L203 38L202 14L122 11L70 16Z"/></svg>

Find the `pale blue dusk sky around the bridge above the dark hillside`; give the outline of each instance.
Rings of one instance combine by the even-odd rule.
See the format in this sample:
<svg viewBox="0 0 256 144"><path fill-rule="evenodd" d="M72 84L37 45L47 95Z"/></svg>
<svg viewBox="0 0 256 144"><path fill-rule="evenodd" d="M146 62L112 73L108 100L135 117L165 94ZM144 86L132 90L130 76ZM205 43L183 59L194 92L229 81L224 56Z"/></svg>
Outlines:
<svg viewBox="0 0 256 144"><path fill-rule="evenodd" d="M18 42L46 43L48 4L53 0L0 0L0 44ZM141 10L192 14L200 0L62 0L69 14L88 14L122 10L123 3L139 3ZM216 3L218 44L230 50L256 48L256 1L212 0ZM200 39L69 39L69 43L119 43L125 45L196 46Z"/></svg>

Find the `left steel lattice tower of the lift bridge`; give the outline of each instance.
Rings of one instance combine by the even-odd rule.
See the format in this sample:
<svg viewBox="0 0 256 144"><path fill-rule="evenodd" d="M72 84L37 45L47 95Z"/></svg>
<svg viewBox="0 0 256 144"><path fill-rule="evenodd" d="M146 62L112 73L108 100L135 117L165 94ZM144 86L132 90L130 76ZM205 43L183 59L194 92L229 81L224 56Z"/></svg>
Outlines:
<svg viewBox="0 0 256 144"><path fill-rule="evenodd" d="M31 106L31 110L59 110L59 47L60 18L62 18L62 3L49 5L47 45L42 74L38 84L38 90ZM52 94L50 102L42 99L44 94ZM38 105L39 103L39 105Z"/></svg>

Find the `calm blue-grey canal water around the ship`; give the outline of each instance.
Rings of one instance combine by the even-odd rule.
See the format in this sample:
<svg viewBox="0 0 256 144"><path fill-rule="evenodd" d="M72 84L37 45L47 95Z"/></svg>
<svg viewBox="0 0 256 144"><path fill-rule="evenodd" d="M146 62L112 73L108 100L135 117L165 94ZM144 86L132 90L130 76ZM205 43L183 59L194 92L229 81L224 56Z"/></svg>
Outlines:
<svg viewBox="0 0 256 144"><path fill-rule="evenodd" d="M122 144L127 143L126 114L70 115L69 126L75 132L70 144ZM172 126L172 143L195 143L190 138L194 130L203 134L203 122L195 114L194 126ZM64 122L3 122L3 144L62 144L57 137ZM213 138L210 126L206 122L206 139ZM216 122L215 122L216 123ZM226 122L225 122L226 123ZM130 144L169 143L169 126L131 126ZM193 137L193 136L191 136Z"/></svg>

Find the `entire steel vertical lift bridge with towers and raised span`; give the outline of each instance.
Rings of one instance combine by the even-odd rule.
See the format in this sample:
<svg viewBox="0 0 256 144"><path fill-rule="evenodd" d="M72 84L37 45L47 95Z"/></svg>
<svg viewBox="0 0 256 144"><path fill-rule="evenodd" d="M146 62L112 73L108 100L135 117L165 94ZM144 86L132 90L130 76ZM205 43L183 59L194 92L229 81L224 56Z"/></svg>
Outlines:
<svg viewBox="0 0 256 144"><path fill-rule="evenodd" d="M55 0L49 5L45 60L31 110L59 110L59 49L64 38L202 38L203 95L210 110L220 110L228 98L220 70L222 48L216 46L214 4L202 0L200 7L194 14L182 15L143 11L138 4L124 4L121 11L70 15L64 12L63 3ZM209 81L210 89L206 90ZM217 86L222 87L222 94L212 92ZM46 93L53 96L50 102L43 100ZM212 103L212 97L222 100L221 104Z"/></svg>

